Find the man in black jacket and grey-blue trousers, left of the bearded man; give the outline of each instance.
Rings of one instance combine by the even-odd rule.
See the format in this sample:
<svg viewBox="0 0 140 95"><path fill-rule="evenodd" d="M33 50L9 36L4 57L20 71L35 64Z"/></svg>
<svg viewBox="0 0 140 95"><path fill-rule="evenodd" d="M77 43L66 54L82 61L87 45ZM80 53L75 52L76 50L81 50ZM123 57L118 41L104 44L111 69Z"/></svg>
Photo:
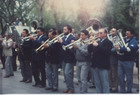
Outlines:
<svg viewBox="0 0 140 95"><path fill-rule="evenodd" d="M48 33L48 37L50 41L55 38L57 35L56 31L50 30ZM57 91L58 90L58 65L59 65L59 57L60 57L60 48L61 44L56 42L49 44L49 42L44 45L46 50L46 76L48 79L48 87L46 90Z"/></svg>

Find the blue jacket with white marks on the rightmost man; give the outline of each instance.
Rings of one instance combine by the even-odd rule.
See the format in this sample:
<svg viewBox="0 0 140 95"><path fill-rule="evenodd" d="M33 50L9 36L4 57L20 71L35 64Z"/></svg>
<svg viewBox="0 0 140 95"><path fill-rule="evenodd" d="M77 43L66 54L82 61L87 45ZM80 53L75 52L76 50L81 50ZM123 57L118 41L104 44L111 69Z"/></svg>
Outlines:
<svg viewBox="0 0 140 95"><path fill-rule="evenodd" d="M136 58L136 52L138 50L138 43L134 37L132 37L130 40L124 39L125 43L127 44L127 48L122 47L120 48L120 53L122 55L119 55L119 60L121 61L134 61Z"/></svg>

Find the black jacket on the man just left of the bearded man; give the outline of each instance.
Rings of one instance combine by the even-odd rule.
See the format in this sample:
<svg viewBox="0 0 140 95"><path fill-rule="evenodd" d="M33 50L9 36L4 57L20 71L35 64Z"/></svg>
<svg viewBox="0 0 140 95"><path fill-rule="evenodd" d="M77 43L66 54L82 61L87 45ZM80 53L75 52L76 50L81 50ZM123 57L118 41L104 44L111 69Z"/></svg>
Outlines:
<svg viewBox="0 0 140 95"><path fill-rule="evenodd" d="M45 53L46 61L51 62L51 64L58 64L60 62L60 43L51 44Z"/></svg>

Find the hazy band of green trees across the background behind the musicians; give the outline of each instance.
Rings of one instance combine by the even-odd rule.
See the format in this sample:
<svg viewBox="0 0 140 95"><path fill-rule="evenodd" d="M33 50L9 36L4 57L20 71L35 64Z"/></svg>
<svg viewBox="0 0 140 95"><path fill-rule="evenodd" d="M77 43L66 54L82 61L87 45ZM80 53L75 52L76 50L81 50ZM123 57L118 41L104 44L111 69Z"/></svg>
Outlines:
<svg viewBox="0 0 140 95"><path fill-rule="evenodd" d="M4 31L6 23L13 23L16 18L21 18L27 26L30 26L33 20L40 22L41 6L39 7L36 1L38 0L2 0L0 3L0 30ZM92 1L94 4L96 0L88 1ZM133 1L135 2L131 2L131 0L100 0L101 4L96 7L92 4L85 7L84 0L70 0L67 3L65 0L61 0L61 2L46 0L42 12L43 27L46 31L51 27L62 30L64 25L69 24L79 33L84 29L89 19L98 18L103 26L109 27L109 29L115 27L125 31L131 28L138 34L139 0ZM67 8L66 4L71 7Z"/></svg>

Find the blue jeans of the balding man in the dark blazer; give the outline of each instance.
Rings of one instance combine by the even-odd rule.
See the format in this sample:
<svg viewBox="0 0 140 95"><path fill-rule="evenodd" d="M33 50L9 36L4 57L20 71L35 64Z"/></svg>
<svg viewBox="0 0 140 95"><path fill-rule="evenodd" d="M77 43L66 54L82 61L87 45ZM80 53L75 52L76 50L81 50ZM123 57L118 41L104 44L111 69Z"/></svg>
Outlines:
<svg viewBox="0 0 140 95"><path fill-rule="evenodd" d="M109 71L106 69L93 68L97 93L110 93L108 73Z"/></svg>

